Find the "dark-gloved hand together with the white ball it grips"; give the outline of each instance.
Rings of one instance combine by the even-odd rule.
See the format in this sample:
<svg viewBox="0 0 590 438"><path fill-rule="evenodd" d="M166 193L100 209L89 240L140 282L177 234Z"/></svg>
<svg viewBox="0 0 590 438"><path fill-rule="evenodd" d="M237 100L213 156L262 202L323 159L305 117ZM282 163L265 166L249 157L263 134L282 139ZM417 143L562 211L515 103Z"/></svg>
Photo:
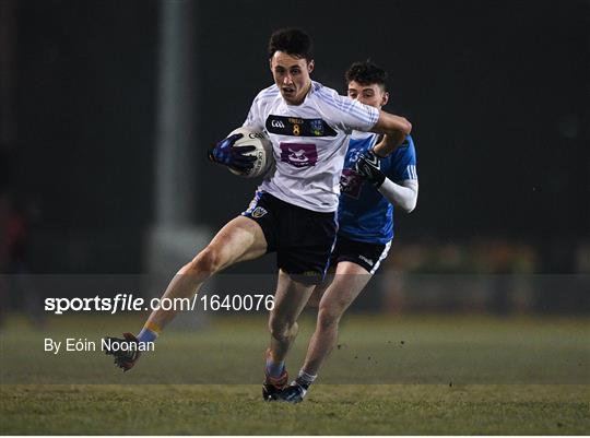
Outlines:
<svg viewBox="0 0 590 438"><path fill-rule="evenodd" d="M238 128L209 152L209 158L235 175L256 178L273 163L272 143L264 132Z"/></svg>

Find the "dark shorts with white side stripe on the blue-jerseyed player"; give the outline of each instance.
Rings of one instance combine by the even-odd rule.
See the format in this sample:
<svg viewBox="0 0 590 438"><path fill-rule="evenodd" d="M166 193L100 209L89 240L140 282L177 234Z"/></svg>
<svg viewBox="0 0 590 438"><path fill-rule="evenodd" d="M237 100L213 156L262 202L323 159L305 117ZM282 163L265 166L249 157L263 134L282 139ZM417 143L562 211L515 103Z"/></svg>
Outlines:
<svg viewBox="0 0 590 438"><path fill-rule="evenodd" d="M337 245L330 257L330 264L335 267L341 261L350 261L374 274L379 269L381 261L387 257L390 247L391 240L387 244L373 244L352 240L339 234Z"/></svg>

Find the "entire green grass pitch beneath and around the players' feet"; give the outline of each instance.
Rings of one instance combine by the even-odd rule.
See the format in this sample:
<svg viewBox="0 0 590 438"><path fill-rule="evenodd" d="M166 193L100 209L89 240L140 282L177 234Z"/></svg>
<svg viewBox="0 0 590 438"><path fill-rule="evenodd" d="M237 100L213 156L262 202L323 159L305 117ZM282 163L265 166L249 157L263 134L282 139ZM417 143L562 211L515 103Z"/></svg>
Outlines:
<svg viewBox="0 0 590 438"><path fill-rule="evenodd" d="M46 336L95 339L140 325L139 317L60 317L35 331L10 320L0 335L0 433L590 434L587 319L350 316L299 405L261 401L263 316L167 330L125 375L101 352L43 351ZM292 372L312 325L303 319Z"/></svg>

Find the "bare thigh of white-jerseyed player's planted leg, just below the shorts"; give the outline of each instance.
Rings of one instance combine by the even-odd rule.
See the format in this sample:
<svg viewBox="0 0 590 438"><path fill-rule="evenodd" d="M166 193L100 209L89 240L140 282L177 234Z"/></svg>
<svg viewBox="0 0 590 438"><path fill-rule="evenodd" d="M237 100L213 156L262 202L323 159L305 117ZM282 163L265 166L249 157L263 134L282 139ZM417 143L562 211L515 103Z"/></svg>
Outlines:
<svg viewBox="0 0 590 438"><path fill-rule="evenodd" d="M314 292L314 285L293 280L290 274L280 270L271 318L295 322Z"/></svg>

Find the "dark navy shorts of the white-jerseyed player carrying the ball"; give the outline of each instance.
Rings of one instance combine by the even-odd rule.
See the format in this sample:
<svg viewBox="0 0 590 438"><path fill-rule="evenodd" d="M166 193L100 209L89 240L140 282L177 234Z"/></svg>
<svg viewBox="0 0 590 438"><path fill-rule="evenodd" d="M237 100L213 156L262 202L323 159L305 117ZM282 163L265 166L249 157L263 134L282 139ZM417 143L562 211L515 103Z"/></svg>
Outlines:
<svg viewBox="0 0 590 438"><path fill-rule="evenodd" d="M279 269L299 283L323 281L338 230L335 212L315 212L257 191L241 215L260 225Z"/></svg>

